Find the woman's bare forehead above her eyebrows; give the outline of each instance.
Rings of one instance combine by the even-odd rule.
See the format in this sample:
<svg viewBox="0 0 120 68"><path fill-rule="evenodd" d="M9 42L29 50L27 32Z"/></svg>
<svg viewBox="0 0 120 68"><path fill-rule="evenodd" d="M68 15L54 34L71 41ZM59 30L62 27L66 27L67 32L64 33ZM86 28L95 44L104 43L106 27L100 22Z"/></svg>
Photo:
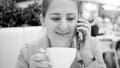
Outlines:
<svg viewBox="0 0 120 68"><path fill-rule="evenodd" d="M77 13L77 3L74 0L52 0L47 13Z"/></svg>

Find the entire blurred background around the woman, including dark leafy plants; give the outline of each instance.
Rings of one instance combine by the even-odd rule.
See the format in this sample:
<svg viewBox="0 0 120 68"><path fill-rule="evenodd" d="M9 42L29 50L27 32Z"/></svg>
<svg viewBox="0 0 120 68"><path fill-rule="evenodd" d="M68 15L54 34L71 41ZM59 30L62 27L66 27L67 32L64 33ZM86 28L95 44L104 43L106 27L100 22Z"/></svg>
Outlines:
<svg viewBox="0 0 120 68"><path fill-rule="evenodd" d="M42 37L42 0L0 0L0 68L14 68L21 47ZM120 0L79 0L107 68L120 68ZM97 46L97 45L96 45Z"/></svg>

